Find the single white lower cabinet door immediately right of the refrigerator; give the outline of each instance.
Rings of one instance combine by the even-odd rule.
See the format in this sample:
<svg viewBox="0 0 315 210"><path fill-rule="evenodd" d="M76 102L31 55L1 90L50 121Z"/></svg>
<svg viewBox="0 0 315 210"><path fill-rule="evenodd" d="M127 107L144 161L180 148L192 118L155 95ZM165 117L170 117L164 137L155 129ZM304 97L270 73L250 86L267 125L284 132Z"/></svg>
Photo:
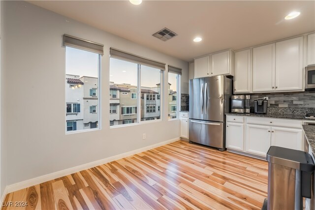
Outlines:
<svg viewBox="0 0 315 210"><path fill-rule="evenodd" d="M226 123L225 132L226 148L243 151L244 149L244 124Z"/></svg>

